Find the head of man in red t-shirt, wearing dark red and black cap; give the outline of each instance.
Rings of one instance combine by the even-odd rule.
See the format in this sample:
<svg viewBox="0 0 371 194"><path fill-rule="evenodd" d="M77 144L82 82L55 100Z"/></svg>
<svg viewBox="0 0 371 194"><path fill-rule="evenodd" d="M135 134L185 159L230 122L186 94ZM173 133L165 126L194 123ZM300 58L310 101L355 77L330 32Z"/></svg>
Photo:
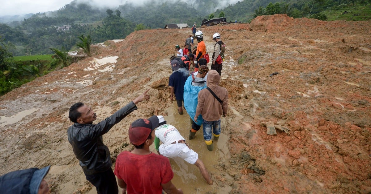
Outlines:
<svg viewBox="0 0 371 194"><path fill-rule="evenodd" d="M152 139L152 131L158 126L159 120L156 115L149 119L137 119L129 127L129 140L136 148L143 149L144 144L152 144L147 140Z"/></svg>

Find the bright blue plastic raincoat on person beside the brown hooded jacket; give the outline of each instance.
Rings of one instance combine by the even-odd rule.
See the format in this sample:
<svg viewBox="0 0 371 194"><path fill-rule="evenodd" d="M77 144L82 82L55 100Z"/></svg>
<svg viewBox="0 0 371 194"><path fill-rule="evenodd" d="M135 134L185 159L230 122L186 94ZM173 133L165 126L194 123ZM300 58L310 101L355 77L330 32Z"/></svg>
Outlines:
<svg viewBox="0 0 371 194"><path fill-rule="evenodd" d="M184 107L185 110L187 110L188 115L191 117L191 119L194 122L194 116L196 115L196 108L197 108L197 96L198 92L201 91L201 89L206 88L206 85L203 87L200 86L193 86L192 85L192 75L188 76L187 81L185 81L184 84ZM197 118L197 122L195 122L197 125L202 124L202 116L199 115Z"/></svg>

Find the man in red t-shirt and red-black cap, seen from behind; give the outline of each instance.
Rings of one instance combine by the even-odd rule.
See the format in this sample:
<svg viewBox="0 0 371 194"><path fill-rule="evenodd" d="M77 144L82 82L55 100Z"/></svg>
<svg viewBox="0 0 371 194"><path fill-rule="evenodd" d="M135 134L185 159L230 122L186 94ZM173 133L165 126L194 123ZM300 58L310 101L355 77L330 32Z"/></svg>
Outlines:
<svg viewBox="0 0 371 194"><path fill-rule="evenodd" d="M131 152L121 152L116 159L115 175L122 193L183 194L177 189L171 179L174 173L171 170L169 159L150 152L150 145L155 140L154 129L158 126L157 116L149 119L137 119L129 127L129 140L134 145Z"/></svg>

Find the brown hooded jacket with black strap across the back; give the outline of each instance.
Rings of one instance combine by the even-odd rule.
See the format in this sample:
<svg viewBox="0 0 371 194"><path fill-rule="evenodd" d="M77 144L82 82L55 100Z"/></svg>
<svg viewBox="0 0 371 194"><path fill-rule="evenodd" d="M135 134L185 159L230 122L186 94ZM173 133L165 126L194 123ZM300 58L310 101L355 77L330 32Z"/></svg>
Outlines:
<svg viewBox="0 0 371 194"><path fill-rule="evenodd" d="M226 114L228 109L228 91L226 88L219 86L220 76L215 70L210 70L207 74L206 84L213 91L216 96L223 101L222 105L209 92L209 90L202 89L198 92L198 104L196 109L196 118L202 115L206 121L216 121L220 119L220 115Z"/></svg>

